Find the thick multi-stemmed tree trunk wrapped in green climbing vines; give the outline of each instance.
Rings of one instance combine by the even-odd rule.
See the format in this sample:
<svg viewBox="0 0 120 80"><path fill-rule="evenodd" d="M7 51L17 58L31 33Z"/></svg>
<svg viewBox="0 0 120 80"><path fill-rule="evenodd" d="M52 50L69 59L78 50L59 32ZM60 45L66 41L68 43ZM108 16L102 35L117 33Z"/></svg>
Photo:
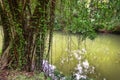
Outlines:
<svg viewBox="0 0 120 80"><path fill-rule="evenodd" d="M51 45L55 1L0 0L4 33L0 69L42 70L47 33L49 49Z"/></svg>

